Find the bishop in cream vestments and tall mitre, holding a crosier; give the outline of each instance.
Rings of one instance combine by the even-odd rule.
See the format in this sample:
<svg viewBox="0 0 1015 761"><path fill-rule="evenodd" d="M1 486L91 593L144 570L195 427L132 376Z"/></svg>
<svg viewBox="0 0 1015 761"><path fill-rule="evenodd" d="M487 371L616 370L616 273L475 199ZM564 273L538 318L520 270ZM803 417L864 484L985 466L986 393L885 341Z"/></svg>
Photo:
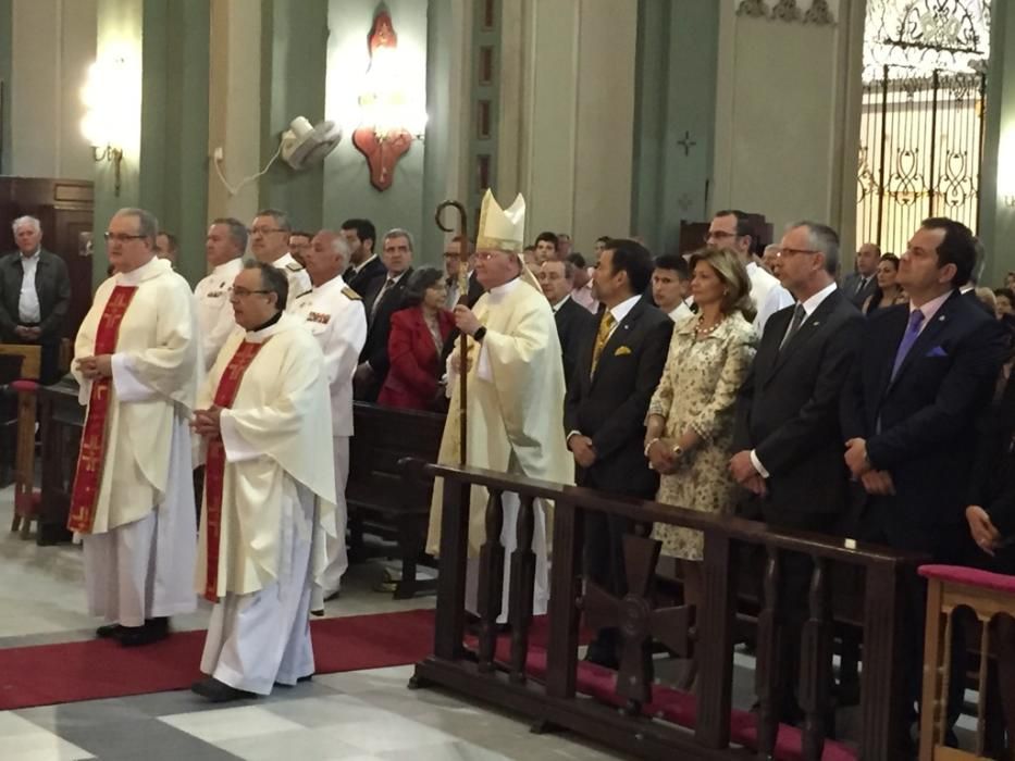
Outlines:
<svg viewBox="0 0 1015 761"><path fill-rule="evenodd" d="M468 373L468 462L503 473L530 478L574 483L574 463L564 437L564 367L554 313L535 277L521 258L525 202L519 195L503 211L488 190L483 199L475 246L475 276L486 289L473 310L455 309L458 328L470 336L469 359L462 364L458 349L451 353L451 370ZM453 372L454 375L454 372ZM440 462L459 462L459 383L441 441ZM428 552L440 551L443 481L434 484L430 513ZM469 520L469 562L466 575L466 608L478 613L479 551L485 541L487 494L473 487ZM498 623L507 623L510 558L517 545L519 500L505 494L504 588ZM549 522L547 506L535 502L532 550L536 557L533 614L546 612L549 601Z"/></svg>

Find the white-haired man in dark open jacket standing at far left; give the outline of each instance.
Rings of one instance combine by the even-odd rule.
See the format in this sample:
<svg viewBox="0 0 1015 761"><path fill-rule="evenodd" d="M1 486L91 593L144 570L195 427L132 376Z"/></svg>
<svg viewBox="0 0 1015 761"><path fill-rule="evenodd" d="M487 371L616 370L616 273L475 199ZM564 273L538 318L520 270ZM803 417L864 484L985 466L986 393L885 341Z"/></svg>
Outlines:
<svg viewBox="0 0 1015 761"><path fill-rule="evenodd" d="M39 380L55 383L71 277L63 260L42 249L37 219L21 216L13 228L17 250L0 259L0 336L8 344L38 344Z"/></svg>

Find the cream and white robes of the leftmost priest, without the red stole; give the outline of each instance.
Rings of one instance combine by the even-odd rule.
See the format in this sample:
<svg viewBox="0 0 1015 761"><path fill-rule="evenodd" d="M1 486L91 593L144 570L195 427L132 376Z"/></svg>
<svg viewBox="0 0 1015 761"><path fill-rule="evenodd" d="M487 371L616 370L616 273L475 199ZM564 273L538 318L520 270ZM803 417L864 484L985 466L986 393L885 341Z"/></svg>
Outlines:
<svg viewBox="0 0 1015 761"><path fill-rule="evenodd" d="M112 357L102 475L84 534L88 608L124 626L195 610L195 506L187 428L201 373L194 302L169 262L152 259L99 286L74 345L95 353L116 286L135 286ZM73 371L88 403L91 382Z"/></svg>

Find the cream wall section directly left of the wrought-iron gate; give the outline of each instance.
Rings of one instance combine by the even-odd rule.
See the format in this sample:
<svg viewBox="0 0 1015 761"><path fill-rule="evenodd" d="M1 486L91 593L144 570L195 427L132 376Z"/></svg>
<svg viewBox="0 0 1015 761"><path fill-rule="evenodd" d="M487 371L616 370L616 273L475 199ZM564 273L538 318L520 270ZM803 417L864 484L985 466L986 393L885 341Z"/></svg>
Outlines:
<svg viewBox="0 0 1015 761"><path fill-rule="evenodd" d="M827 222L849 251L858 128L853 80L863 38L854 7L863 3L835 5L833 24L815 24L739 15L737 3L720 4L710 211L763 213L776 239L794 221Z"/></svg>

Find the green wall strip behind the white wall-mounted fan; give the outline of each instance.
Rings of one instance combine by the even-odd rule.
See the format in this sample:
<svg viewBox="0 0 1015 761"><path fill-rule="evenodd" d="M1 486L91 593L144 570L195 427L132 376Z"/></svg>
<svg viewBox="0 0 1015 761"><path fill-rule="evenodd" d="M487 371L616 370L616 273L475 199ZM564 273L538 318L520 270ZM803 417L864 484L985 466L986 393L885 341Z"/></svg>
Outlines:
<svg viewBox="0 0 1015 761"><path fill-rule="evenodd" d="M278 149L289 122L324 117L327 0L262 0L261 159ZM262 164L262 165L263 165ZM259 185L259 205L287 211L297 227L321 226L324 169L294 172L281 159Z"/></svg>

